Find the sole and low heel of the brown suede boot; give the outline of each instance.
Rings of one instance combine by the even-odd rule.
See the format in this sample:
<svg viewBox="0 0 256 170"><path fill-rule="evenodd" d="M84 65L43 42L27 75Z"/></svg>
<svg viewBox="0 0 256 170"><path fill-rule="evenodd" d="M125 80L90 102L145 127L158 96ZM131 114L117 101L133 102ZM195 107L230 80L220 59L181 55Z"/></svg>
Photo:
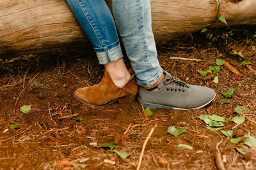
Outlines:
<svg viewBox="0 0 256 170"><path fill-rule="evenodd" d="M79 102L81 102L83 104L90 105L90 106L108 106L109 104L115 103L116 101L118 101L118 103L120 103L120 104L131 104L131 103L134 103L134 101L136 99L136 96L137 96L137 94L132 94L131 96L121 97L121 98L115 99L115 100L113 100L113 101L111 101L109 103L102 104L102 105L88 103L86 101L83 101L82 99L79 99L79 97L76 97L76 95L74 95L74 98L77 101L79 101Z"/></svg>

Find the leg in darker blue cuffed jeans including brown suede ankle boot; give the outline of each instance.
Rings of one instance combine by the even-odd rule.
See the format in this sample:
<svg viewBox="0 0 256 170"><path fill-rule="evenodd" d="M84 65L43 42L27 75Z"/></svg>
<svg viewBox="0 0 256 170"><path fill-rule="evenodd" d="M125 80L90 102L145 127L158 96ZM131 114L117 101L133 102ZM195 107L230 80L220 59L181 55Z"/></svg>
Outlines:
<svg viewBox="0 0 256 170"><path fill-rule="evenodd" d="M134 76L125 67L115 23L105 1L66 1L90 39L99 63L106 69L99 85L76 90L76 99L87 104L104 105L134 96L137 90Z"/></svg>

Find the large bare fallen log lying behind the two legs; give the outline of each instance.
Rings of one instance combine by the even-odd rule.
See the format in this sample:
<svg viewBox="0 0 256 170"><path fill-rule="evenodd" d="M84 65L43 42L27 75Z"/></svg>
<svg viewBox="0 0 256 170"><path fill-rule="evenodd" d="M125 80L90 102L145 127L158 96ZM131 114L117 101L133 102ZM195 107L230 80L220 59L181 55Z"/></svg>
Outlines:
<svg viewBox="0 0 256 170"><path fill-rule="evenodd" d="M156 42L225 26L217 15L228 25L256 24L255 0L222 0L219 13L216 0L151 0L151 6ZM65 0L0 1L0 59L88 45Z"/></svg>

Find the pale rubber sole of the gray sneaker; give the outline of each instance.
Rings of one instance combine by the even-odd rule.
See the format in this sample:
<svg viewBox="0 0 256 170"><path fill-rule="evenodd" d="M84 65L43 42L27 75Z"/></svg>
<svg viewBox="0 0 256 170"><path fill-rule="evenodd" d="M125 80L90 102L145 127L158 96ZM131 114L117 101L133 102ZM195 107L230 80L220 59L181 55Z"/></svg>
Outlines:
<svg viewBox="0 0 256 170"><path fill-rule="evenodd" d="M151 108L151 109L172 109L172 110L193 110L193 109L200 109L200 108L204 108L204 106L206 106L207 104L211 103L211 101L215 98L216 94L214 94L214 97L212 97L212 99L203 104L202 106L198 106L196 108L175 108L173 106L166 106L166 105L163 105L163 104L154 104L154 103L147 103L147 102L143 102L139 99L138 97L138 102L140 104L142 104L143 108Z"/></svg>

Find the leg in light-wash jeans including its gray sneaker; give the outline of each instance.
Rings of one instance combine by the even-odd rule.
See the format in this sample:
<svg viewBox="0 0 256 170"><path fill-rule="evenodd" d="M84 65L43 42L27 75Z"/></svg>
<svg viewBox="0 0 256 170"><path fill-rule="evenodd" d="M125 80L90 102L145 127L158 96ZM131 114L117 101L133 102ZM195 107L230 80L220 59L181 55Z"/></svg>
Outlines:
<svg viewBox="0 0 256 170"><path fill-rule="evenodd" d="M207 87L189 85L162 71L151 29L150 0L113 0L116 26L137 76L138 100L150 108L202 108L215 97ZM155 87L154 90L148 87Z"/></svg>

